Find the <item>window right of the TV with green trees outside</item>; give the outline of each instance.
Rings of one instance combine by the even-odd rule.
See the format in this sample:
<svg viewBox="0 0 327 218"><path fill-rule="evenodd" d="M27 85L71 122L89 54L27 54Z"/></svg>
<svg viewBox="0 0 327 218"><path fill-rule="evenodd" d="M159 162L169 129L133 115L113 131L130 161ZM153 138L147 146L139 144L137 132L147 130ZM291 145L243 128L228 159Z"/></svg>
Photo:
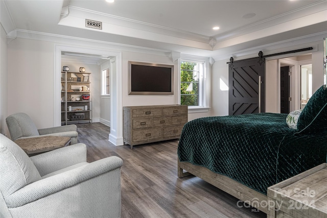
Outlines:
<svg viewBox="0 0 327 218"><path fill-rule="evenodd" d="M208 64L207 58L181 57L180 104L189 109L208 108Z"/></svg>

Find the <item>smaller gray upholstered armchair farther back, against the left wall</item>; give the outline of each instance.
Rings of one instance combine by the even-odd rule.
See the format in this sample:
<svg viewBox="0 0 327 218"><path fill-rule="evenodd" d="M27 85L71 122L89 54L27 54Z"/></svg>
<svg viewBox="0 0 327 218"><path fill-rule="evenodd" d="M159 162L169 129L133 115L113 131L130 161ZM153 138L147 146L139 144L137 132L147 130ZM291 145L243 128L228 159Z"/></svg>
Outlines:
<svg viewBox="0 0 327 218"><path fill-rule="evenodd" d="M71 144L77 143L78 133L76 125L37 129L32 119L26 113L12 114L6 118L6 123L13 141L22 138L53 135L71 137Z"/></svg>

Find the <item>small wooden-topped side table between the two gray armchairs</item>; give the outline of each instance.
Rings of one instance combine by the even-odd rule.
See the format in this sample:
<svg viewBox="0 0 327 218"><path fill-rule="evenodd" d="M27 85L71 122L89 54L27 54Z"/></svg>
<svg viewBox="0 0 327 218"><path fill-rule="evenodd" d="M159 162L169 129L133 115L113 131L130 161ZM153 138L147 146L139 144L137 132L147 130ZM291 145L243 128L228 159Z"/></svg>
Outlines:
<svg viewBox="0 0 327 218"><path fill-rule="evenodd" d="M65 147L70 142L71 137L63 136L40 136L15 141L29 156Z"/></svg>

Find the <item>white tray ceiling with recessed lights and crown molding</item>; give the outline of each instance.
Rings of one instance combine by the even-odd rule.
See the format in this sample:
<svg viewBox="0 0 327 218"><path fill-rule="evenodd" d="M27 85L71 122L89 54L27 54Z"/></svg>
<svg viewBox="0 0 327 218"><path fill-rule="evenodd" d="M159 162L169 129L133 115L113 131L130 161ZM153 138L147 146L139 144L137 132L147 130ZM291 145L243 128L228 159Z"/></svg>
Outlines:
<svg viewBox="0 0 327 218"><path fill-rule="evenodd" d="M5 5L18 32L206 57L327 33L327 1L5 0ZM101 21L102 30L86 28L85 19Z"/></svg>

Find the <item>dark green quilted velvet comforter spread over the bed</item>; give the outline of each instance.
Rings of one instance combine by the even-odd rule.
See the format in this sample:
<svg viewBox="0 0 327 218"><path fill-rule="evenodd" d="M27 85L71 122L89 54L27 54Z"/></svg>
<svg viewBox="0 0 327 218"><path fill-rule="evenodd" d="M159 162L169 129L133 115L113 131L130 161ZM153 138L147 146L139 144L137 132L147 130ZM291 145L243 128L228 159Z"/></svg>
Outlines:
<svg viewBox="0 0 327 218"><path fill-rule="evenodd" d="M207 167L266 195L267 188L326 162L326 134L294 134L287 114L203 117L185 124L180 161Z"/></svg>

